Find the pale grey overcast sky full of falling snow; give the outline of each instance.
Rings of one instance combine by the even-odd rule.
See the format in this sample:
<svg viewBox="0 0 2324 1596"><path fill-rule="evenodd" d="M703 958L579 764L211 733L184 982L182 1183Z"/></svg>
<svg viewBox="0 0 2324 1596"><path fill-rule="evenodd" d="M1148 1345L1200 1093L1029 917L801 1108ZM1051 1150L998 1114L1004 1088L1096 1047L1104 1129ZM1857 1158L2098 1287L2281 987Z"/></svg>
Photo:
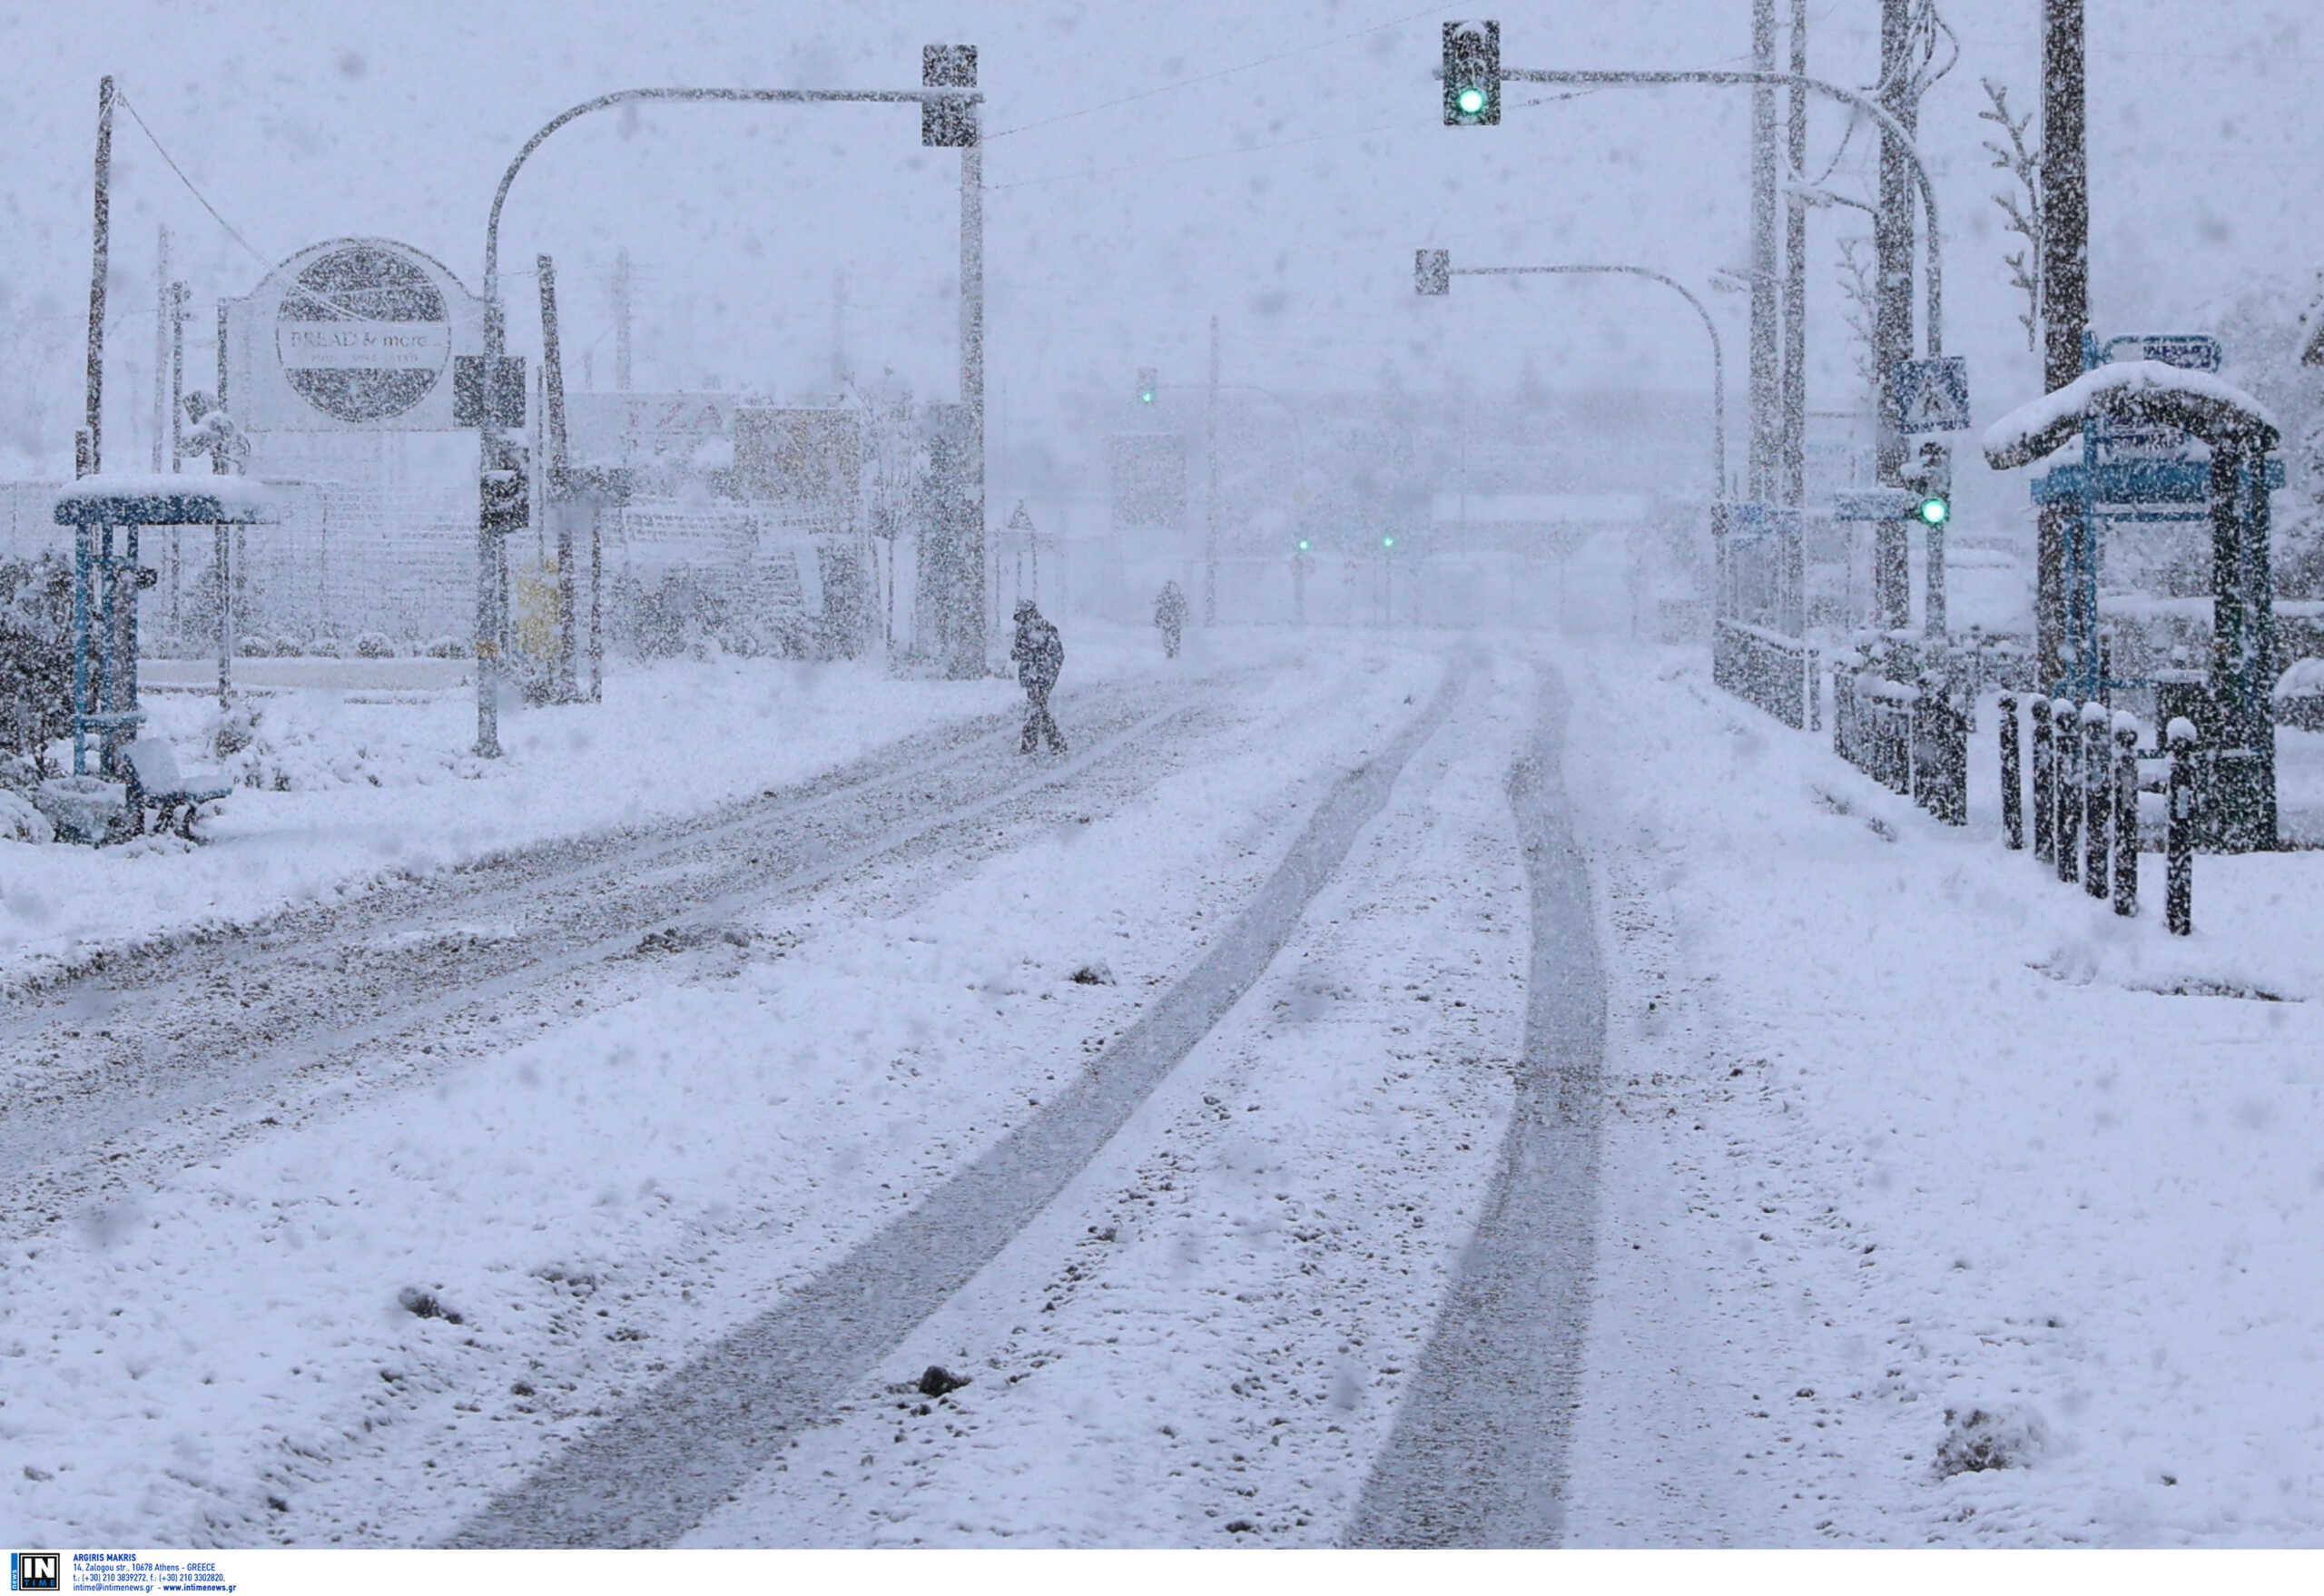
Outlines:
<svg viewBox="0 0 2324 1596"><path fill-rule="evenodd" d="M1787 12L1787 5L1780 7ZM2031 102L2038 0L1945 0L1964 60L1924 102L1948 230L1948 348L1971 358L1980 416L2029 397L1978 149L1980 77ZM2092 5L2094 316L2175 330L2257 279L2305 295L2317 265L2324 130L2308 0ZM12 372L56 393L42 446L70 458L86 318L95 86L114 72L186 174L274 263L337 235L439 256L472 288L483 216L518 144L558 109L644 84L913 86L920 44L981 46L995 402L1039 425L1055 395L1122 386L1136 365L1197 381L1206 318L1229 381L1362 386L1394 367L1508 386L1532 358L1552 386L1699 388L1701 337L1641 283L1462 283L1420 304L1411 251L1455 263L1638 263L1701 286L1745 253L1748 95L1601 91L1527 105L1497 130L1446 130L1436 26L1466 12L1397 0L1171 5L686 5L397 0L353 7L19 5L0 14L12 139L0 286ZM1508 65L1741 65L1748 0L1506 5ZM1864 84L1878 2L1817 0L1810 65ZM1264 65L1253 65L1264 63ZM1160 93L1148 93L1160 91ZM1146 95L1127 105L1109 105ZM1085 112L1085 114L1074 114ZM1815 163L1843 116L1820 112ZM1857 153L1868 151L1859 137ZM263 265L235 244L123 116L114 188L114 365L121 416L151 351L156 223L177 237L198 325ZM1843 179L1868 190L1855 156ZM1855 179L1845 174L1855 172ZM616 114L560 132L518 179L504 267L558 258L572 351L611 383L607 276L641 267L639 386L811 388L830 365L832 279L848 279L858 369L895 365L948 397L957 158L918 146L909 109L711 107ZM1810 404L1848 404L1834 237L1810 218L1820 323ZM535 342L530 279L514 342ZM688 311L690 302L690 311ZM1715 311L1741 367L1743 304ZM683 339L683 342L681 342ZM30 355L42 360L26 365ZM198 355L207 360L207 351ZM581 383L572 358L569 381ZM146 390L149 393L149 390ZM1734 388L1731 388L1734 393ZM114 416L109 404L109 416ZM53 434L53 437L49 437ZM135 432L128 432L135 437Z"/></svg>

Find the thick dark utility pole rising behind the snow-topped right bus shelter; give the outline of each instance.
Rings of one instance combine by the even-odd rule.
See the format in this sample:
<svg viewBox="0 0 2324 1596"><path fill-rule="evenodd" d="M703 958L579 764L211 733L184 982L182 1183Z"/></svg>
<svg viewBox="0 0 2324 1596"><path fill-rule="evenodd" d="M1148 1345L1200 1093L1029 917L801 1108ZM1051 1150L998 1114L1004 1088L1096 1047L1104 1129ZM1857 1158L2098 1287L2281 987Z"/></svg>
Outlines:
<svg viewBox="0 0 2324 1596"><path fill-rule="evenodd" d="M2082 0L2043 0L2040 190L2043 388L2057 393L2082 374L2082 330L2089 325ZM2066 674L2066 537L2075 520L2071 502L2043 504L2033 534L2033 650L2043 692Z"/></svg>

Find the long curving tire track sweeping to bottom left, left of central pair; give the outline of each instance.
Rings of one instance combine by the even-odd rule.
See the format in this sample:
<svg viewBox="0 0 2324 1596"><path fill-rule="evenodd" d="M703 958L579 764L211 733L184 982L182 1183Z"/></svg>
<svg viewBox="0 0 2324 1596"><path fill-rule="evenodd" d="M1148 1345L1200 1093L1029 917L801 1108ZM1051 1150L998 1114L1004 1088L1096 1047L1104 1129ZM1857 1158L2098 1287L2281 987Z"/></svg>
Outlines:
<svg viewBox="0 0 2324 1596"><path fill-rule="evenodd" d="M964 1287L1250 990L1380 813L1469 676L1455 662L1394 741L1315 808L1204 959L1076 1083L790 1299L730 1331L625 1412L493 1501L456 1547L669 1545L823 1417Z"/></svg>

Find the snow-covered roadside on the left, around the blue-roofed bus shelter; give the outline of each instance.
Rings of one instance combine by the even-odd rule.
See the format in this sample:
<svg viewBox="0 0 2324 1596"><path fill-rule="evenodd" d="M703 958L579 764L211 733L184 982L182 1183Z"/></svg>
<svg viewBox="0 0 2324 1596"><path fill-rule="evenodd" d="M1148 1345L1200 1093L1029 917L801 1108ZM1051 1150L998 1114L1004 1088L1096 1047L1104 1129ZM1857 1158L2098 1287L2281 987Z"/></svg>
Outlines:
<svg viewBox="0 0 2324 1596"><path fill-rule="evenodd" d="M1076 634L1067 688L1267 660L1232 634L1164 667L1134 630ZM146 697L149 729L188 781L235 790L198 829L119 848L14 843L0 832L0 980L130 939L239 925L565 836L695 815L804 781L951 720L1004 713L1013 681L897 681L876 662L667 660L614 671L602 704L504 709L504 757L479 760L467 692L281 690L249 697L218 753L218 709Z"/></svg>

